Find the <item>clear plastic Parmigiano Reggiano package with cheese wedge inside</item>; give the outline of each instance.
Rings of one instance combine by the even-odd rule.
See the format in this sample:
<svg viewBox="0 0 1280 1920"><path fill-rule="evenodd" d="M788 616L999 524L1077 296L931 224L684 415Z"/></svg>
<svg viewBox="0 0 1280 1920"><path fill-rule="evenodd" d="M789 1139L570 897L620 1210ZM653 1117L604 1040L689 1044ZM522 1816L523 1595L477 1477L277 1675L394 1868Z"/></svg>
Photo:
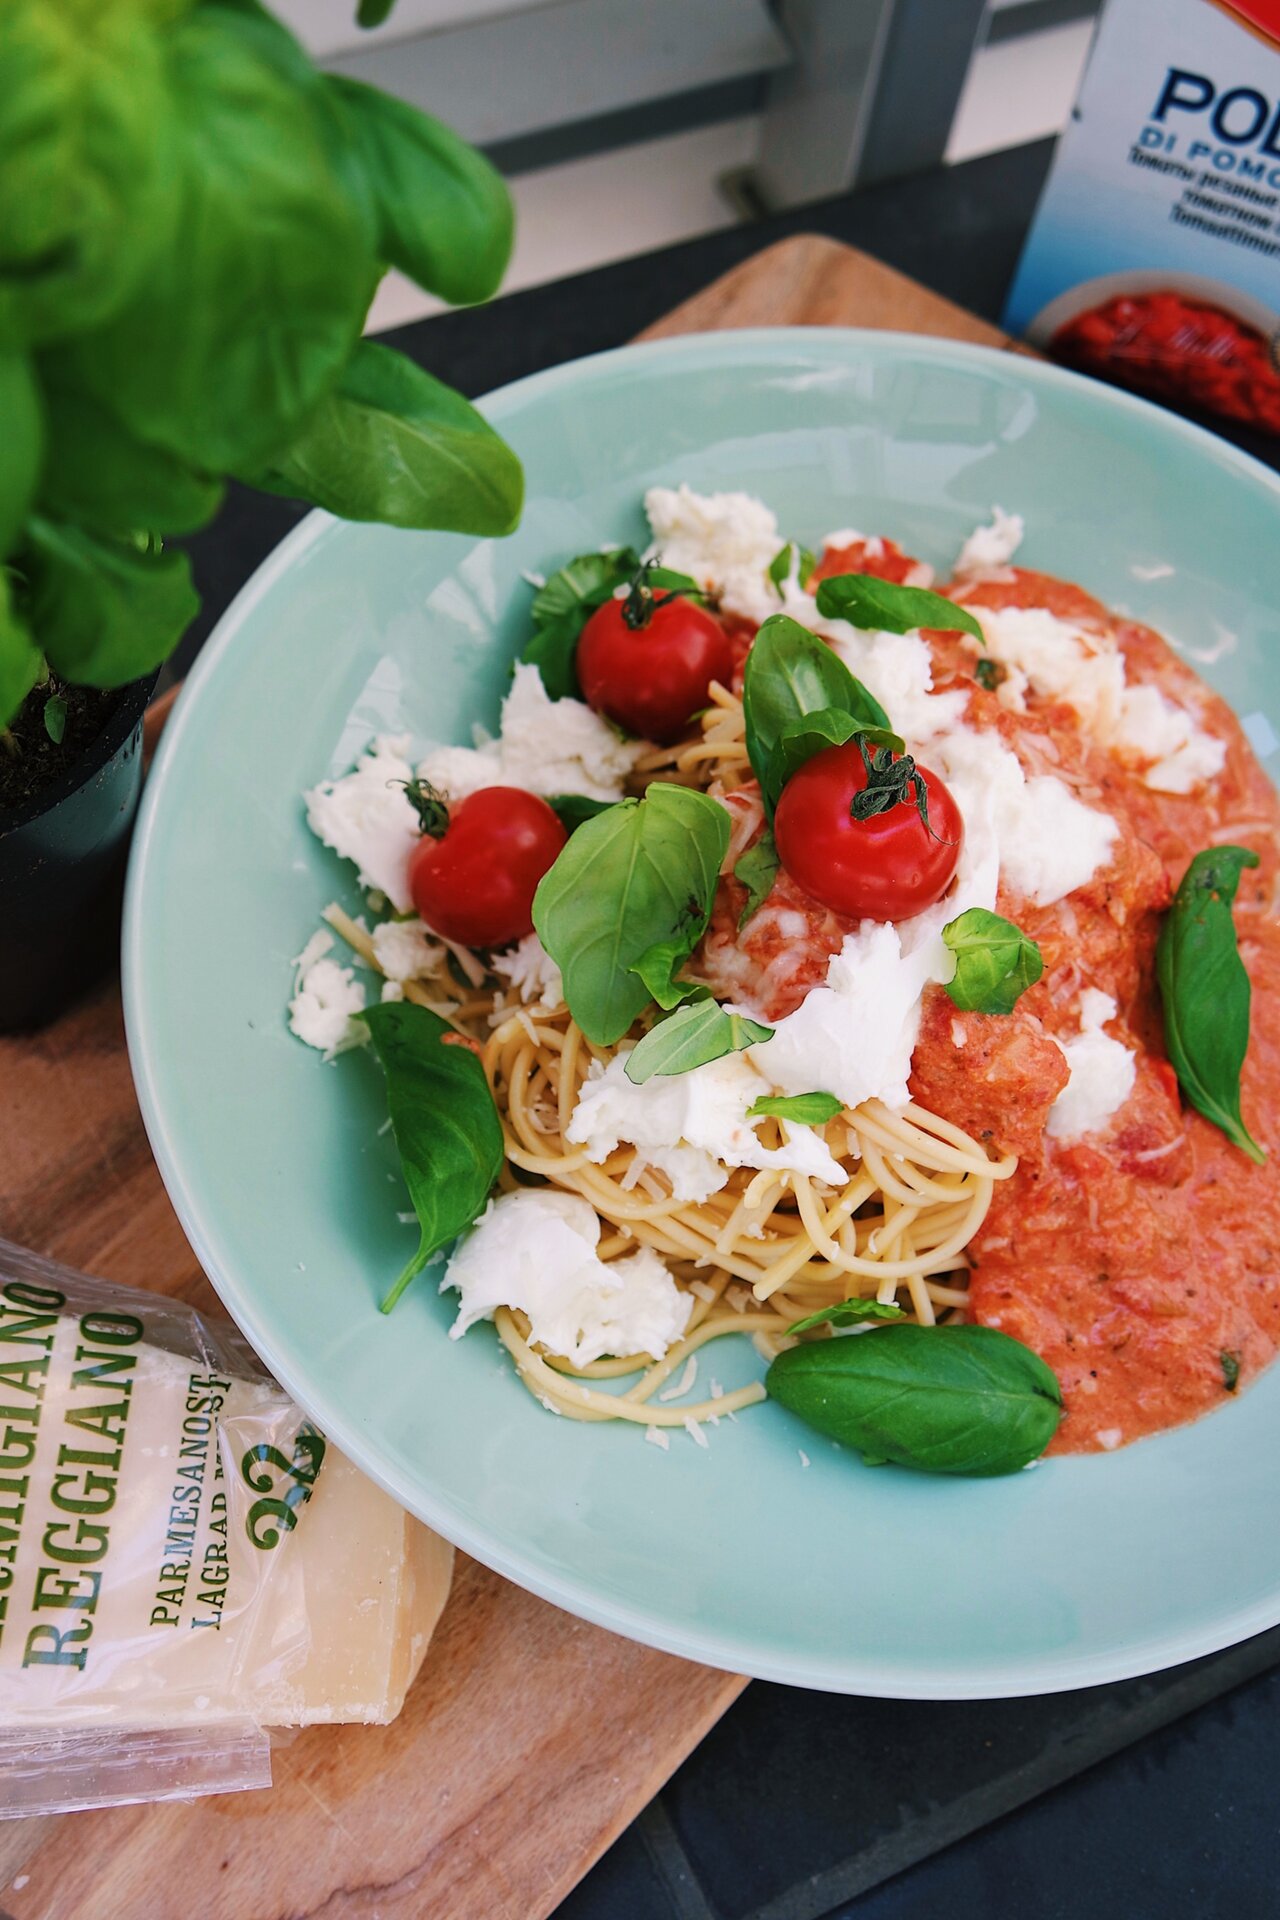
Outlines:
<svg viewBox="0 0 1280 1920"><path fill-rule="evenodd" d="M453 1549L234 1329L0 1242L0 1812L265 1786L388 1722Z"/></svg>

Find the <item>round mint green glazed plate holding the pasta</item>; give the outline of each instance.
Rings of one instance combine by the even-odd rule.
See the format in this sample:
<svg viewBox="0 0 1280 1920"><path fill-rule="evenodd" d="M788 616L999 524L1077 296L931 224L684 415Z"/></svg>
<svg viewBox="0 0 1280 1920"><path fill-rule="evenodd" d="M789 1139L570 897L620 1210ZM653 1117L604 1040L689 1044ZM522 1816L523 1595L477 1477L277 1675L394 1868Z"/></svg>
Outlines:
<svg viewBox="0 0 1280 1920"><path fill-rule="evenodd" d="M528 470L507 541L313 515L203 649L152 772L125 927L129 1046L169 1194L263 1359L397 1500L620 1634L800 1686L963 1699L1117 1680L1280 1620L1280 1369L1115 1455L1006 1480L865 1469L777 1405L670 1453L553 1419L420 1281L372 1060L290 1039L290 956L349 870L299 793L374 730L493 722L530 588L639 540L652 482L747 488L787 534L944 566L994 501L1021 559L1163 628L1280 735L1280 484L1222 442L1009 353L835 330L626 348L495 394ZM1270 762L1274 766L1274 760ZM758 1375L745 1340L700 1386ZM808 1455L810 1465L802 1461Z"/></svg>

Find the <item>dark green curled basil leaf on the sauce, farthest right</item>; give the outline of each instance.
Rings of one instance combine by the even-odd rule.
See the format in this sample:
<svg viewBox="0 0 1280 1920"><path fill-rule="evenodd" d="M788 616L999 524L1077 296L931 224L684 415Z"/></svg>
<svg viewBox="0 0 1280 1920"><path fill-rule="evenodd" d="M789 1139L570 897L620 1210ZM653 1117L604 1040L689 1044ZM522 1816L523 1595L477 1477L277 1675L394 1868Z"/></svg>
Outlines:
<svg viewBox="0 0 1280 1920"><path fill-rule="evenodd" d="M1249 847L1209 847L1196 854L1155 945L1155 977L1165 1002L1165 1046L1182 1092L1261 1165L1265 1152L1240 1117L1251 995L1232 902L1247 866L1257 866Z"/></svg>

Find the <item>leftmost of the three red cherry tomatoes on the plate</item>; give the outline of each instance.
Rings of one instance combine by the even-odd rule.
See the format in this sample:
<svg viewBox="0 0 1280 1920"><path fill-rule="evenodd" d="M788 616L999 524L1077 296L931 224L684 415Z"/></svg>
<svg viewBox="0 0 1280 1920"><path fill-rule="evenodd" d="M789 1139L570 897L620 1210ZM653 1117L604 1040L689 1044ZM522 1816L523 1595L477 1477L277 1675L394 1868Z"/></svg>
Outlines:
<svg viewBox="0 0 1280 1920"><path fill-rule="evenodd" d="M441 808L443 814L443 808ZM533 931L533 893L568 839L551 806L520 787L482 787L449 808L409 858L422 920L461 947L509 947Z"/></svg>

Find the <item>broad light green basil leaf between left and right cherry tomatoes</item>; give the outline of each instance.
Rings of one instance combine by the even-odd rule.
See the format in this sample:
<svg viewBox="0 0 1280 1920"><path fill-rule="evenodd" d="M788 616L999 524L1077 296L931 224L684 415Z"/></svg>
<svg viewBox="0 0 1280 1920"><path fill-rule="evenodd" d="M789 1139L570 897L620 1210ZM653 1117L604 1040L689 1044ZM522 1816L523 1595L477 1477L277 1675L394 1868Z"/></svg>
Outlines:
<svg viewBox="0 0 1280 1920"><path fill-rule="evenodd" d="M597 1046L612 1046L652 995L633 972L660 941L691 954L706 931L729 845L725 808L654 781L583 822L533 895L533 925L560 968L568 1008Z"/></svg>

